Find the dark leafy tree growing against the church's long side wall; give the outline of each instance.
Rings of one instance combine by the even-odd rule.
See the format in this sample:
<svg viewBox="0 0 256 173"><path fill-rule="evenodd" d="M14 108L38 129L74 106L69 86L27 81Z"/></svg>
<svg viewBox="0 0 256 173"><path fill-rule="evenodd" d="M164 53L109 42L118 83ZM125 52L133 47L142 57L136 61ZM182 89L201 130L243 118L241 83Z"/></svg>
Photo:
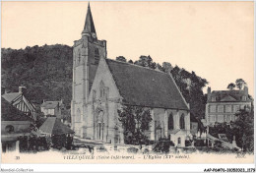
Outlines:
<svg viewBox="0 0 256 173"><path fill-rule="evenodd" d="M152 121L150 110L140 106L123 105L117 112L124 130L125 144L146 144L148 137L145 132L149 130Z"/></svg>

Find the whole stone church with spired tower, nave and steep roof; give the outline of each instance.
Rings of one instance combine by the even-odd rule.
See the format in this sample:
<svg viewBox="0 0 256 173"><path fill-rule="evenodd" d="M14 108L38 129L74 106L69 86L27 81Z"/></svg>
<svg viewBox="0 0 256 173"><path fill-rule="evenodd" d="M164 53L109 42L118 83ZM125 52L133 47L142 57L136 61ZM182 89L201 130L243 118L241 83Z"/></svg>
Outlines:
<svg viewBox="0 0 256 173"><path fill-rule="evenodd" d="M170 72L108 59L106 41L97 39L89 5L82 37L73 45L71 121L75 135L124 144L117 113L123 105L150 109L149 140L166 138L185 146L190 137L189 104Z"/></svg>

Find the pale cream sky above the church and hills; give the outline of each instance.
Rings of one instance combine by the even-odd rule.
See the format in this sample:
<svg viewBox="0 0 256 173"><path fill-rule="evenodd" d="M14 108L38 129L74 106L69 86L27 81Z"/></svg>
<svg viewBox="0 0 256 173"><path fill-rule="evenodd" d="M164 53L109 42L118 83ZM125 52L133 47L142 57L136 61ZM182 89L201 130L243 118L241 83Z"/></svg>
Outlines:
<svg viewBox="0 0 256 173"><path fill-rule="evenodd" d="M1 46L72 46L87 9L88 2L2 2ZM91 2L91 9L108 58L151 55L194 71L212 90L243 79L254 96L253 2Z"/></svg>

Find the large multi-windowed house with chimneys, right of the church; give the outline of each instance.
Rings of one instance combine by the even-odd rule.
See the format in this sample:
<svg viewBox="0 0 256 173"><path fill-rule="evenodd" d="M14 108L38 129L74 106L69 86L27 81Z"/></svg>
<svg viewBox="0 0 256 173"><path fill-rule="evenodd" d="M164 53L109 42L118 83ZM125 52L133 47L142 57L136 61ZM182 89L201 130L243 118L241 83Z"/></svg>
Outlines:
<svg viewBox="0 0 256 173"><path fill-rule="evenodd" d="M213 90L208 87L206 104L206 121L208 126L216 123L230 124L235 120L235 113L240 109L251 109L252 97L248 87L235 90Z"/></svg>

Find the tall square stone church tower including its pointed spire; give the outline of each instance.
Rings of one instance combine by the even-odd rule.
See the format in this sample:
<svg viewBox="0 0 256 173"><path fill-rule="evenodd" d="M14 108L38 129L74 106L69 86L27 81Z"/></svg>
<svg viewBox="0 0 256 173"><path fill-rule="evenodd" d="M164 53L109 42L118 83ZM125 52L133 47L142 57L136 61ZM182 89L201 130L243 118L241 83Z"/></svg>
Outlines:
<svg viewBox="0 0 256 173"><path fill-rule="evenodd" d="M71 122L75 135L81 138L87 136L87 102L100 58L106 58L106 41L97 39L89 4L81 39L73 45Z"/></svg>

